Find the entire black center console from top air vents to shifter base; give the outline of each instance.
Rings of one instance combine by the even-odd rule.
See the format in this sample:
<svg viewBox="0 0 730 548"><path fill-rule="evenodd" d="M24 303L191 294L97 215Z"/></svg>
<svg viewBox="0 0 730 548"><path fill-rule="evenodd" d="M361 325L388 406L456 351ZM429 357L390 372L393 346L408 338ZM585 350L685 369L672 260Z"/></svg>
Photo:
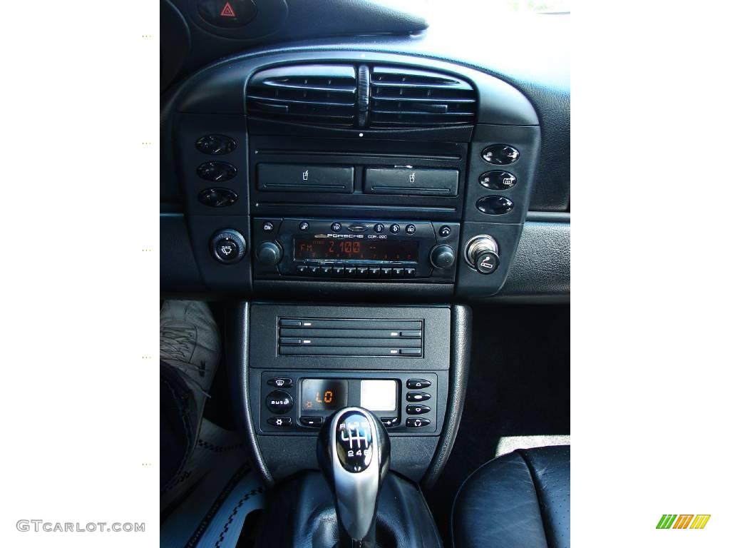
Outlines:
<svg viewBox="0 0 730 548"><path fill-rule="evenodd" d="M433 525L418 485L442 471L464 403L469 308L456 303L499 294L510 270L539 153L534 108L468 66L306 47L220 61L167 104L163 161L196 265L207 289L240 300L228 374L258 470L306 513L324 496L320 476L301 479L320 469L323 425L364 409L389 440L383 489L399 500L375 522L415 539L408 526ZM312 545L332 546L318 531Z"/></svg>

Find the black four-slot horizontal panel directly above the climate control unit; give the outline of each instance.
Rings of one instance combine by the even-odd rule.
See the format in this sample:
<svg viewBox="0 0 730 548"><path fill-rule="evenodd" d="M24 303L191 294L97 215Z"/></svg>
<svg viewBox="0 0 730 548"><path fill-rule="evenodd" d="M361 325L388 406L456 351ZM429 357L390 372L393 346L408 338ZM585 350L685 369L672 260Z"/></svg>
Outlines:
<svg viewBox="0 0 730 548"><path fill-rule="evenodd" d="M283 356L423 356L423 320L280 318Z"/></svg>

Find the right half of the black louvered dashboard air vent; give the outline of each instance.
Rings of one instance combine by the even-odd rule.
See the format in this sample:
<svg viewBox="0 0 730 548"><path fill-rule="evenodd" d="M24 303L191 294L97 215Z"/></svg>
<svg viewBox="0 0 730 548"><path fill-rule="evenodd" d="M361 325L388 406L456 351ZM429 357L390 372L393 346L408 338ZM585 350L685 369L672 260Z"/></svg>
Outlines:
<svg viewBox="0 0 730 548"><path fill-rule="evenodd" d="M475 123L477 94L459 78L397 66L374 66L370 77L372 128Z"/></svg>

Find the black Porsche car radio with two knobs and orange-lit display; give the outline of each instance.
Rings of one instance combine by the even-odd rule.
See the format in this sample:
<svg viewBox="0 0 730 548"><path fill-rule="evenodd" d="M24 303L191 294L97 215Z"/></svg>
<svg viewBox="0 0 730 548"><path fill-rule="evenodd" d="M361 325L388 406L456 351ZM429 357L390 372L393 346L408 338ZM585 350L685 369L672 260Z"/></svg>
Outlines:
<svg viewBox="0 0 730 548"><path fill-rule="evenodd" d="M458 223L256 218L257 278L453 282Z"/></svg>

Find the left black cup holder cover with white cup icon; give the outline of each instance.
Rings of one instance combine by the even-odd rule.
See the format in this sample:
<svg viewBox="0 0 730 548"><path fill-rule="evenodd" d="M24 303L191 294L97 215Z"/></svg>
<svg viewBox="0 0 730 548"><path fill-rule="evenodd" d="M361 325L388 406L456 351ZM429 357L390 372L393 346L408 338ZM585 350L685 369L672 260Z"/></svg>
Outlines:
<svg viewBox="0 0 730 548"><path fill-rule="evenodd" d="M306 164L258 164L258 190L352 194L355 168Z"/></svg>

